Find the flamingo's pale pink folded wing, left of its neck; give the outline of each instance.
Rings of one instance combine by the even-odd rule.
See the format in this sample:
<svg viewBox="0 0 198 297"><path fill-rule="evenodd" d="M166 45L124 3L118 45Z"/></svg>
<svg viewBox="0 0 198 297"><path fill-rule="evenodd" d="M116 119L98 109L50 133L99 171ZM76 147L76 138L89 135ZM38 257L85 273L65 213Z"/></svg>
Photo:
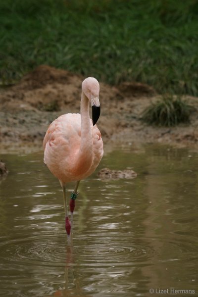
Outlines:
<svg viewBox="0 0 198 297"><path fill-rule="evenodd" d="M71 181L70 167L80 148L80 114L67 113L54 120L45 135L44 162L59 180Z"/></svg>

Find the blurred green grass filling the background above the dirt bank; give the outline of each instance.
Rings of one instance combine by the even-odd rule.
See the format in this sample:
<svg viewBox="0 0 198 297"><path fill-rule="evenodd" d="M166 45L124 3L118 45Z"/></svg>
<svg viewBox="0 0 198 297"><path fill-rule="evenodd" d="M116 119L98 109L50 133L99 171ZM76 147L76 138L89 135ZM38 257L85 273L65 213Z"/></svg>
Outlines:
<svg viewBox="0 0 198 297"><path fill-rule="evenodd" d="M40 64L198 96L198 0L1 0L0 81Z"/></svg>

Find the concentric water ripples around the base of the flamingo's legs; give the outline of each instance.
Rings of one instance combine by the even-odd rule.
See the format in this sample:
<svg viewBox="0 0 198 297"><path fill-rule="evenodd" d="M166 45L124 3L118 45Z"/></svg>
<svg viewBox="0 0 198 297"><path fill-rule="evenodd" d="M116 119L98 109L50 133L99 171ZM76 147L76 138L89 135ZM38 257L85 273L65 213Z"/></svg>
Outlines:
<svg viewBox="0 0 198 297"><path fill-rule="evenodd" d="M51 235L51 231L44 234L41 235L40 232L40 235L33 234L32 237L1 241L0 257L3 258L4 263L11 261L12 265L20 264L20 267L27 264L31 266L64 267L68 256L65 234ZM106 267L109 263L127 267L135 262L147 261L153 253L153 250L148 246L134 245L134 247L127 247L120 246L119 243L113 245L101 245L101 243L94 245L80 244L71 246L70 250L72 257L81 260L79 265L86 267Z"/></svg>

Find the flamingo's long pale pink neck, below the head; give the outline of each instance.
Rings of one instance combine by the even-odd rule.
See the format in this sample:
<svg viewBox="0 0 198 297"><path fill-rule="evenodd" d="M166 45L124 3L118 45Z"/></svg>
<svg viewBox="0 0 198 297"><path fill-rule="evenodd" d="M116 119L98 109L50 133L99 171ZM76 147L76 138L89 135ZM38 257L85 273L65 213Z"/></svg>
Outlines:
<svg viewBox="0 0 198 297"><path fill-rule="evenodd" d="M82 91L81 96L81 145L76 158L76 170L86 172L92 165L93 139L90 126L89 99Z"/></svg>

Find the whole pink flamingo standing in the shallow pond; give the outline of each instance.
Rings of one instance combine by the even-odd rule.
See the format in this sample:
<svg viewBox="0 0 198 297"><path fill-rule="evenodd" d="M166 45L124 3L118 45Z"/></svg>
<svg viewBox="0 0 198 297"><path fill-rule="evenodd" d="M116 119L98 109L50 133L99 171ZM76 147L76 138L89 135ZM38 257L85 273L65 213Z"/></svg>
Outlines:
<svg viewBox="0 0 198 297"><path fill-rule="evenodd" d="M89 116L89 103L92 106L92 120ZM96 126L99 115L99 82L94 77L88 77L82 82L80 114L59 116L49 125L43 141L44 163L58 178L63 191L68 242L79 183L96 170L103 155L103 142ZM65 185L73 181L76 184L69 203L70 222Z"/></svg>

